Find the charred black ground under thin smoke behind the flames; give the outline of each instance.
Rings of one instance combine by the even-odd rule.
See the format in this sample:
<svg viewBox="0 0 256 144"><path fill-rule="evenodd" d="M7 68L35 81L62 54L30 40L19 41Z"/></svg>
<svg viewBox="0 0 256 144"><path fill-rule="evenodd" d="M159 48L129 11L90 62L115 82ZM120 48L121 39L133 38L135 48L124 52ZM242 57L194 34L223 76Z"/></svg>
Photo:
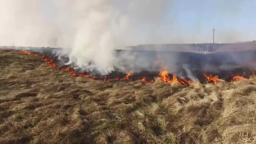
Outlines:
<svg viewBox="0 0 256 144"><path fill-rule="evenodd" d="M101 75L96 71L85 72L82 69L75 68L75 64L65 65L69 61L67 55L59 55L56 53L61 53L62 49L57 48L41 48L41 49L30 49L34 53L44 54L48 59L53 59L58 64L58 67L69 67L74 69L75 72L79 73L89 73L94 75L96 79L102 79L106 77L107 79L115 79L116 77L124 77L126 72L133 71L131 67L127 67L126 72L115 68L114 71L110 72L108 75ZM159 71L163 70L163 66L158 65L156 67L156 61L161 61L164 66L175 65L174 72L170 72L170 77L172 74L177 75L177 77L185 77L187 80L192 80L192 77L200 81L201 83L206 83L204 74L208 75L218 75L220 79L225 81L230 81L234 75L240 75L243 77L250 77L254 73L254 68L256 68L256 51L236 51L236 52L219 52L219 53L191 53L191 52L171 52L171 51L135 51L135 50L116 50L115 55L135 55L133 62L145 61L149 67L147 69L136 69L133 71L133 75L129 77L130 80L140 80L141 77L145 77L147 80L153 80L158 76ZM175 61L173 62L173 57ZM193 81L193 80L192 80Z"/></svg>

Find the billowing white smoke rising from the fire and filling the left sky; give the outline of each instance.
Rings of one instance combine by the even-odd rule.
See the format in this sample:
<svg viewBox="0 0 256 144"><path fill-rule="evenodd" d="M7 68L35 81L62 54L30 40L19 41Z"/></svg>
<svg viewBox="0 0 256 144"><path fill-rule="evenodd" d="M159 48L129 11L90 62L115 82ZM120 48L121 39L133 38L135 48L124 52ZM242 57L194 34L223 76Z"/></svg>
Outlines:
<svg viewBox="0 0 256 144"><path fill-rule="evenodd" d="M1 45L70 48L69 62L108 72L115 48L159 42L170 0L0 0Z"/></svg>

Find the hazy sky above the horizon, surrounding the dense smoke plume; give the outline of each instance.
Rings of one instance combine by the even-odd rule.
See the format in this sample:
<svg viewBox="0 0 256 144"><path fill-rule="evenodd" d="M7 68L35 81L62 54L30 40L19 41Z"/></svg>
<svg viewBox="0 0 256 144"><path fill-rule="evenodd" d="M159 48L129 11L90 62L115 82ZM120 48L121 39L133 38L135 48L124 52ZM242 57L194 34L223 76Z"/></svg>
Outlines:
<svg viewBox="0 0 256 144"><path fill-rule="evenodd" d="M216 43L256 40L256 0L0 0L0 45L72 47L78 21L104 15L101 5L117 45L212 43L213 27Z"/></svg>

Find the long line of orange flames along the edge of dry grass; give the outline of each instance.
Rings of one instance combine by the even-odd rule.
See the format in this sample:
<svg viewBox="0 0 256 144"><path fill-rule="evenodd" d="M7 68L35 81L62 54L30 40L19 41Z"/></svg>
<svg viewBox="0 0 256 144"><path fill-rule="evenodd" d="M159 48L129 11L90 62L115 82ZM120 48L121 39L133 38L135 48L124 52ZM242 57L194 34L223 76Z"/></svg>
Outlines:
<svg viewBox="0 0 256 144"><path fill-rule="evenodd" d="M3 50L2 50L3 51ZM14 50L5 50L14 51ZM73 69L71 65L64 65L59 66L59 60L56 56L49 55L49 54L42 54L37 52L31 51L19 51L21 54L29 55L29 56L36 56L49 67L59 70L61 72L67 72L72 77L83 77L92 80L103 80L103 81L133 81L133 80L141 80L142 83L152 84L155 83L155 80L161 80L165 83L169 84L180 84L180 85L191 85L195 82L201 83L213 83L216 84L220 81L239 81L239 80L246 80L248 77L253 75L255 72L252 69L246 69L243 67L236 67L236 69L218 72L218 73L209 73L197 70L197 80L191 80L187 76L177 75L176 72L170 73L166 66L161 66L161 70L158 72L150 72L150 71L141 71L141 72L133 72L128 71L124 72L112 72L108 75L92 75L90 72L81 72L76 69ZM161 62L161 61L160 61ZM251 61L251 64L255 64L255 61Z"/></svg>

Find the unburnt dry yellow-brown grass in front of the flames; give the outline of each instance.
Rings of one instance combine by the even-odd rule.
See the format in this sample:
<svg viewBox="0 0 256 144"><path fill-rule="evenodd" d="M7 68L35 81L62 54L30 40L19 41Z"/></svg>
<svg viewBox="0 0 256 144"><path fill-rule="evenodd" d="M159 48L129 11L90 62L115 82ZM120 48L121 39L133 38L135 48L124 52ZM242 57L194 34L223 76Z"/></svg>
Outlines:
<svg viewBox="0 0 256 144"><path fill-rule="evenodd" d="M71 77L0 52L0 143L255 143L256 78L170 85Z"/></svg>

